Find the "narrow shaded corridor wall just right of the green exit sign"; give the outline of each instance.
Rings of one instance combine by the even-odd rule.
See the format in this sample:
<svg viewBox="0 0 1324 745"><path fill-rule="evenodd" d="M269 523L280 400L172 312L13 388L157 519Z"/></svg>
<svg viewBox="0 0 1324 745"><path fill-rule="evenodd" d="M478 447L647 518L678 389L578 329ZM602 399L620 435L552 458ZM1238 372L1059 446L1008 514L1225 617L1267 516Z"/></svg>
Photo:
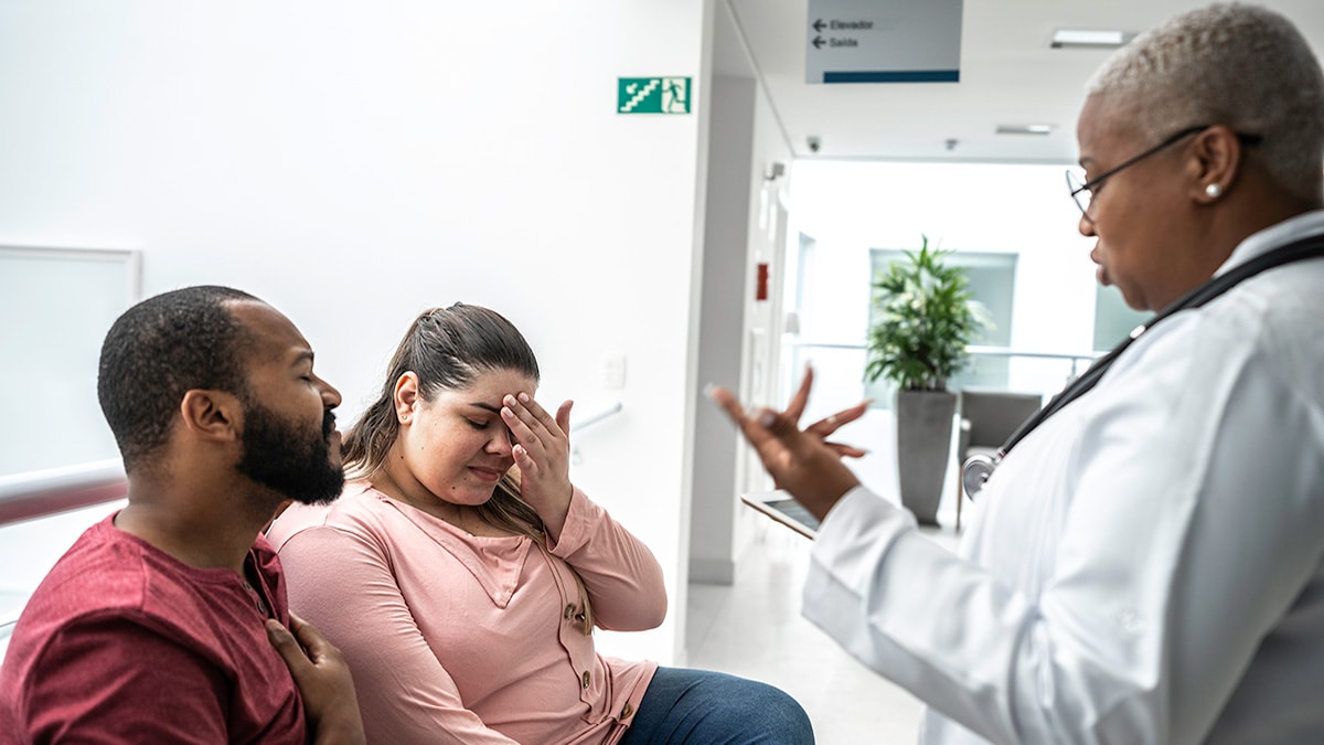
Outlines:
<svg viewBox="0 0 1324 745"><path fill-rule="evenodd" d="M776 341L771 329L781 286L769 281L769 297L756 298L757 265L780 272L776 233L777 190L785 178L769 179L773 163L788 166L792 152L776 121L767 91L749 61L739 27L726 3L712 15L712 78L707 87L707 182L703 276L699 314L699 380L740 392L745 403L765 403L759 382L771 378L776 347L753 350L760 338ZM753 359L753 354L761 355ZM763 362L763 365L760 365ZM769 380L776 391L776 382ZM751 490L749 472L767 480L749 463L749 449L708 402L695 410L692 501L690 516L690 579L731 583L748 538L759 520L740 505Z"/></svg>

